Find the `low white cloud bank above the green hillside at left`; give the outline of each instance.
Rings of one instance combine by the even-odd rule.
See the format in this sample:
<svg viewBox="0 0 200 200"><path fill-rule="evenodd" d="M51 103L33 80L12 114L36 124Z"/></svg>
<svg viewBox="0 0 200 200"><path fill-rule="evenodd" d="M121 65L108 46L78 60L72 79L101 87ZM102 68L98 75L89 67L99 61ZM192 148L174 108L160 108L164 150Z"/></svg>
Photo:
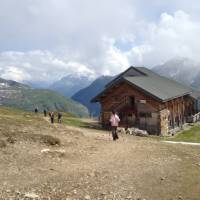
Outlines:
<svg viewBox="0 0 200 200"><path fill-rule="evenodd" d="M78 62L65 62L48 51L0 53L1 77L15 81L49 84L71 73L86 73L94 78L95 72Z"/></svg>

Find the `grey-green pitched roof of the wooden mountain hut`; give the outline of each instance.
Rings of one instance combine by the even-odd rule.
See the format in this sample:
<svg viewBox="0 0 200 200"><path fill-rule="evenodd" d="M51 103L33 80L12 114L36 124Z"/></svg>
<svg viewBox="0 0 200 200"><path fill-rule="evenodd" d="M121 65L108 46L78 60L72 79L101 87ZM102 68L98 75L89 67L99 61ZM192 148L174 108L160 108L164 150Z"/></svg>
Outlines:
<svg viewBox="0 0 200 200"><path fill-rule="evenodd" d="M141 74L130 76L131 73L128 73L130 70L139 71ZM145 67L130 67L125 73L120 74L120 76L108 84L104 91L92 99L92 102L99 101L111 87L121 81L128 82L163 102L192 93L192 88L160 76Z"/></svg>

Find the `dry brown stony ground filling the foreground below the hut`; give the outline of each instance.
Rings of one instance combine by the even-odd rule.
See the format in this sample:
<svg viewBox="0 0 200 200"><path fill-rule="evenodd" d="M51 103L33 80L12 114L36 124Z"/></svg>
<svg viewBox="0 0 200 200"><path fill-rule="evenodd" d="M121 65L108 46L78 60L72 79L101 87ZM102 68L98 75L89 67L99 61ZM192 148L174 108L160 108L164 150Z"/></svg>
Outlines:
<svg viewBox="0 0 200 200"><path fill-rule="evenodd" d="M0 113L2 200L200 199L199 146Z"/></svg>

